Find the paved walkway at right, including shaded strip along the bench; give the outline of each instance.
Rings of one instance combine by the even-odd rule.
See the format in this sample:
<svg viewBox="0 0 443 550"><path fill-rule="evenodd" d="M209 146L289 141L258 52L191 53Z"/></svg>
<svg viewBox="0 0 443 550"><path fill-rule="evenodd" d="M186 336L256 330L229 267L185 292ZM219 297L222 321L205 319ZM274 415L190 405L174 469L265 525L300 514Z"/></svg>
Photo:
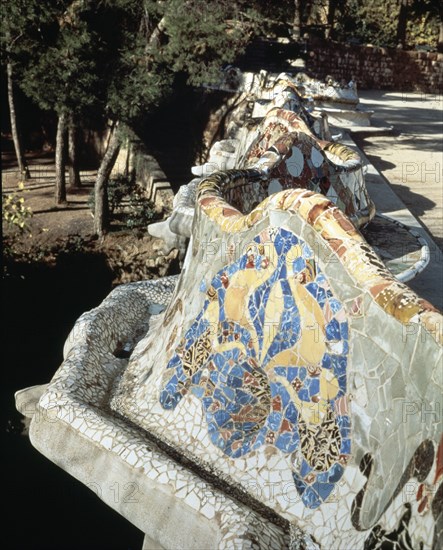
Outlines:
<svg viewBox="0 0 443 550"><path fill-rule="evenodd" d="M408 284L443 309L443 97L383 91L361 91L359 97L375 111L375 124L394 127L352 134L370 163L368 190L378 212L418 229L428 241L430 263Z"/></svg>

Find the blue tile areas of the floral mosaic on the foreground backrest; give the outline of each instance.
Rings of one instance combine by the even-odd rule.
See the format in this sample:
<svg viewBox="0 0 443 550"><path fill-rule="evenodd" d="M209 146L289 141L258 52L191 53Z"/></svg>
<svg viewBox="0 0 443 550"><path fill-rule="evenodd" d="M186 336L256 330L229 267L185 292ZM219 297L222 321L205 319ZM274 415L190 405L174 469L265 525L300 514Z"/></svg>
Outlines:
<svg viewBox="0 0 443 550"><path fill-rule="evenodd" d="M282 350L296 345L300 338L299 311L291 287L286 280L286 253L292 246L298 243L301 244L302 257L296 258L292 267L296 272L308 269L311 275L315 277L314 281L306 284L306 288L320 307L324 310L325 303L328 301L333 314L338 313L342 307L340 302L332 296L332 293L321 286L326 284L327 281L324 274L313 263L314 254L310 247L303 241L299 241L289 230L280 228L272 230L271 233L274 235L274 244L267 243L266 248L275 246L278 261L277 266L271 267L273 272L269 279L251 292L249 297L247 307L253 322L253 330L249 332L237 323L229 321L224 309L226 290L221 280L222 276L227 276L230 279L239 269L246 269L249 260L246 254L243 254L238 261L220 270L211 281L211 285L217 291L219 300L219 324L209 327L208 321L203 317L209 305L209 300L206 299L202 311L185 334L185 349L199 345L199 339L210 328L212 331L211 337L216 336L219 344L238 341L239 344L243 344L246 351L243 352L240 351L239 347L234 347L221 353L215 352L205 359L204 365L192 366L191 370L194 374L190 379L188 378L190 373L188 373L188 370L184 371L182 359L177 353L168 363L168 369L173 370L174 376L166 383L160 393L160 402L164 408L168 409L174 408L182 398L182 393L186 391L191 391L200 398L206 412L208 433L212 443L232 458L243 456L264 444L273 444L283 453L294 452L300 444L297 428L299 412L296 404L291 401L292 392L288 391L280 382L271 382L268 379L268 393L266 396L267 399L274 400L274 406L280 402L280 410L272 410L272 406L270 406L266 418L263 417L257 422L250 419L254 417L253 410L243 413L244 407L249 409L251 406L254 407L258 404L257 397L255 397L257 388L246 383L248 377L245 374L249 373L249 376L256 377L256 380L262 386L264 380L267 379L264 369L269 361ZM257 237L255 241L259 244L260 238ZM263 256L258 254L258 246L254 255L255 268L261 271L260 264ZM276 284L280 285L281 295L283 296L283 312L279 319L273 320L271 325L266 326L266 305L271 290ZM203 285L201 288L204 291L206 286ZM269 335L272 342L263 364L257 367L255 363L248 362L249 357L258 363L256 351L254 348L249 347L249 344L255 341L261 353L264 331L270 331ZM336 319L332 319L326 326L326 338L343 344L342 355L325 354L322 360L322 366L332 369L337 377L340 385L338 396L340 396L346 391L347 323L338 323ZM205 365L211 365L215 369L211 370L209 374L212 386L201 376L201 369ZM319 394L319 378L308 376L305 366L277 366L274 367L273 373L284 377L288 380L288 383L292 383L293 387L295 379L298 378L301 384L298 395L305 402L312 403L311 398ZM213 394L205 397L205 393ZM335 400L332 400L330 403L332 410L334 410L334 404ZM233 418L236 418L236 420L233 421ZM349 454L349 417L338 416L337 425L341 434L341 452ZM342 471L343 469L338 463L334 464L328 472L316 474L314 486L307 485L297 472L294 472L294 483L297 491L302 495L305 505L310 508L318 507L331 494L333 484L339 479ZM312 468L303 460L301 477L305 477L311 472Z"/></svg>

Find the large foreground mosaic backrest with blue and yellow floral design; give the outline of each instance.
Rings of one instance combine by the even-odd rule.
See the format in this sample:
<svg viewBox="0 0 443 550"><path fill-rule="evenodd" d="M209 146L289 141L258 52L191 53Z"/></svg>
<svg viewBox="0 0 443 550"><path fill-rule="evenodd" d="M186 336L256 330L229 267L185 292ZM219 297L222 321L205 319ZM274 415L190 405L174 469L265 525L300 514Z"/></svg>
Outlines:
<svg viewBox="0 0 443 550"><path fill-rule="evenodd" d="M324 548L398 530L436 548L441 315L322 195L243 215L223 188L247 180L200 185L174 298L112 407Z"/></svg>

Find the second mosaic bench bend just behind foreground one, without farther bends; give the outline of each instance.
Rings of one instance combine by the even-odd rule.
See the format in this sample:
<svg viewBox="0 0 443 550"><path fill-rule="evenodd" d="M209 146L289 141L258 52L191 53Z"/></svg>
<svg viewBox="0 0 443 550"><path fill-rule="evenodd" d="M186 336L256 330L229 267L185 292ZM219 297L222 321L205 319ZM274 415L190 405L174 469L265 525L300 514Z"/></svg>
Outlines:
<svg viewBox="0 0 443 550"><path fill-rule="evenodd" d="M210 174L220 165L259 170L262 178L244 186L237 182L227 196L228 202L243 212L279 190L305 188L323 193L357 227L374 217L375 206L366 189L358 153L319 139L297 113L273 107L246 141L247 145L232 139L217 142L208 163L193 170ZM198 182L196 178L182 186L174 198L171 217L148 228L152 236L164 240L165 252L174 247L184 252L183 238L191 235Z"/></svg>

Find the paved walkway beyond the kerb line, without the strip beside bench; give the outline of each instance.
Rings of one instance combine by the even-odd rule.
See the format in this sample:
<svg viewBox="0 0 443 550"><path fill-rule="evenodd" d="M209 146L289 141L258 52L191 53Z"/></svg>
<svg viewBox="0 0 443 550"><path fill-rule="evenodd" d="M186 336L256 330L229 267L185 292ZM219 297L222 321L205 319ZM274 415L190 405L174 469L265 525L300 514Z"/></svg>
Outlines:
<svg viewBox="0 0 443 550"><path fill-rule="evenodd" d="M393 125L361 134L363 149L443 250L443 95L360 91L362 106Z"/></svg>

